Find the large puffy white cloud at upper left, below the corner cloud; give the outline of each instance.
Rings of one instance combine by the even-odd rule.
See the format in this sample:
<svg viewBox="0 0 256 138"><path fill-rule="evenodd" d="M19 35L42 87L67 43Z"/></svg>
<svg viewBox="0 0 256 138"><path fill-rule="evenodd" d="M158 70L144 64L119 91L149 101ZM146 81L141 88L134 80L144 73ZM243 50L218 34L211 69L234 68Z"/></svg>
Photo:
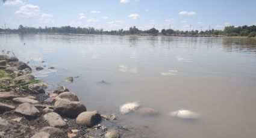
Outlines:
<svg viewBox="0 0 256 138"><path fill-rule="evenodd" d="M17 14L22 17L34 17L38 16L40 13L38 5L26 4L19 8L19 10L15 11L14 14Z"/></svg>

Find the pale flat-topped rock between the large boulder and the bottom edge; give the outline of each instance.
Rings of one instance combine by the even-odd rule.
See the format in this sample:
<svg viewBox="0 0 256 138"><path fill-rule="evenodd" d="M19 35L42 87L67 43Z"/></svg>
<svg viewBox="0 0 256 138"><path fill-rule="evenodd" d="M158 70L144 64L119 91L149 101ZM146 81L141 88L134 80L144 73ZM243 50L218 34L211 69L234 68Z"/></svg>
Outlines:
<svg viewBox="0 0 256 138"><path fill-rule="evenodd" d="M55 112L46 113L43 116L43 119L45 119L48 122L48 124L51 125L52 127L63 127L67 125L66 122L63 121L61 116Z"/></svg>

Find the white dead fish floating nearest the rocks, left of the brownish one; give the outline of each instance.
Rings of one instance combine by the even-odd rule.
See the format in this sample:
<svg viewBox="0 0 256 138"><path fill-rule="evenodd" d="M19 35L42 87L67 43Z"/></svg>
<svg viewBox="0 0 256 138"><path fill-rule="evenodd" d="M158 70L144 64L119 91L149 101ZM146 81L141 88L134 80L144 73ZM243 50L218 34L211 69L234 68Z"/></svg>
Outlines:
<svg viewBox="0 0 256 138"><path fill-rule="evenodd" d="M133 103L126 103L119 107L120 112L122 115L125 115L127 113L133 112L137 110L140 107L140 103L134 101Z"/></svg>

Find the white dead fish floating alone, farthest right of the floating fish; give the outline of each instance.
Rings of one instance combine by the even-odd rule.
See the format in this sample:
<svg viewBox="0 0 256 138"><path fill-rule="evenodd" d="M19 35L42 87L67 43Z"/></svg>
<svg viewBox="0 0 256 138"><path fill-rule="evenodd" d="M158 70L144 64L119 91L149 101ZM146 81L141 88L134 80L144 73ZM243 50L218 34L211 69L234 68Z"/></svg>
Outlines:
<svg viewBox="0 0 256 138"><path fill-rule="evenodd" d="M182 118L182 119L197 119L198 114L195 112L192 112L190 110L184 110L180 109L174 112L170 112L170 116L176 117L176 118Z"/></svg>

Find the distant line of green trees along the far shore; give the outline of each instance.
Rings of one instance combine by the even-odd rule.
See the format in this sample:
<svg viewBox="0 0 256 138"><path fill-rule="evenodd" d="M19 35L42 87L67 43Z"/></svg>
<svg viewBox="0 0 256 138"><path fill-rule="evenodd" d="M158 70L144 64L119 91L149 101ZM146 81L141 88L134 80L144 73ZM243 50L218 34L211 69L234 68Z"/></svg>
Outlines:
<svg viewBox="0 0 256 138"><path fill-rule="evenodd" d="M58 33L58 34L107 34L107 35L167 35L167 36L245 36L245 37L255 37L256 26L226 26L225 29L217 30L211 29L206 31L179 31L173 29L162 29L161 32L155 28L151 28L142 31L136 26L131 27L129 30L115 30L115 31L104 31L103 29L95 29L93 27L81 28L81 27L71 27L71 26L61 26L61 27L28 27L20 25L18 29L1 29L0 32L8 33L19 33L19 34L40 34L40 33Z"/></svg>

